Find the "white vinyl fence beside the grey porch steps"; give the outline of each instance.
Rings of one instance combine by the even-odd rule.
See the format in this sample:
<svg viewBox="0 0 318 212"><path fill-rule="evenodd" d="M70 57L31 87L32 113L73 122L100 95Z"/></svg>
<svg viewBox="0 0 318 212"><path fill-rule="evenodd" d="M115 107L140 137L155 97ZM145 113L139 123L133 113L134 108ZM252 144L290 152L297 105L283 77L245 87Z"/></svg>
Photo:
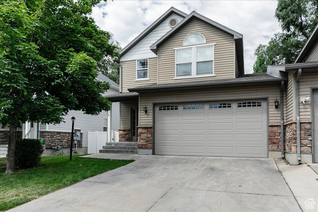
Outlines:
<svg viewBox="0 0 318 212"><path fill-rule="evenodd" d="M106 146L107 132L88 131L87 154L99 153L99 150Z"/></svg>

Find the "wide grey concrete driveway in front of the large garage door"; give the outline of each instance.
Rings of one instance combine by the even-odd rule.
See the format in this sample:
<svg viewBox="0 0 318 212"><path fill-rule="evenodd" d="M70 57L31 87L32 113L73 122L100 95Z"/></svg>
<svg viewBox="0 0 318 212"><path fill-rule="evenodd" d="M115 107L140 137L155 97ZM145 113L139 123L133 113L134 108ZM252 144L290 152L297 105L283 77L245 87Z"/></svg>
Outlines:
<svg viewBox="0 0 318 212"><path fill-rule="evenodd" d="M132 159L10 211L301 211L273 159Z"/></svg>

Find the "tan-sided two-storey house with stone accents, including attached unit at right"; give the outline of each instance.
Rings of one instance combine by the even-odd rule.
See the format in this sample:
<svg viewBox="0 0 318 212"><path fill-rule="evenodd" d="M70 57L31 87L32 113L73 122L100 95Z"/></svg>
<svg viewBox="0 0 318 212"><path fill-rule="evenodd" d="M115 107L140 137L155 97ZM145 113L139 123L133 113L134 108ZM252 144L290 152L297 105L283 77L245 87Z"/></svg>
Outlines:
<svg viewBox="0 0 318 212"><path fill-rule="evenodd" d="M245 74L242 34L171 7L120 54L120 92L107 99L120 102L119 140L137 141L138 154L285 155L298 164L313 162L314 152L318 162L312 149L317 148L312 145L318 122L317 36L296 61L315 62ZM297 80L299 96L311 97L306 103L297 98Z"/></svg>

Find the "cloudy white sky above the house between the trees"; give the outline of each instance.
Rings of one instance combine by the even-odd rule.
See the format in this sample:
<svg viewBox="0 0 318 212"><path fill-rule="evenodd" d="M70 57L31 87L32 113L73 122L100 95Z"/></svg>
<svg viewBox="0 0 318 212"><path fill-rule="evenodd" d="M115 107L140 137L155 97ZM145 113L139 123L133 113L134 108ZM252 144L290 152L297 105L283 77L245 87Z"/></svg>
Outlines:
<svg viewBox="0 0 318 212"><path fill-rule="evenodd" d="M254 50L281 31L274 18L277 1L177 1L141 0L101 1L93 8L96 24L111 32L125 47L170 7L187 14L195 10L226 27L243 34L245 73L253 72Z"/></svg>

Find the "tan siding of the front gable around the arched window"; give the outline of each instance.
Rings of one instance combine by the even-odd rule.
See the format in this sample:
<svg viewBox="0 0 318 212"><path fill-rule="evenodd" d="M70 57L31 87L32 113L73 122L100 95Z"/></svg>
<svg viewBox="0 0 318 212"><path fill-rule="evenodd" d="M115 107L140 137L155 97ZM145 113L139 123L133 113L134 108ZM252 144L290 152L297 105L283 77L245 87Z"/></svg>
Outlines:
<svg viewBox="0 0 318 212"><path fill-rule="evenodd" d="M182 47L183 40L191 33L200 33L207 43L216 43L214 46L214 74L215 77L176 79L175 77L175 50ZM234 77L234 42L233 36L226 34L215 27L196 18L192 19L182 29L177 31L158 48L159 83L189 82L210 79L226 79Z"/></svg>

